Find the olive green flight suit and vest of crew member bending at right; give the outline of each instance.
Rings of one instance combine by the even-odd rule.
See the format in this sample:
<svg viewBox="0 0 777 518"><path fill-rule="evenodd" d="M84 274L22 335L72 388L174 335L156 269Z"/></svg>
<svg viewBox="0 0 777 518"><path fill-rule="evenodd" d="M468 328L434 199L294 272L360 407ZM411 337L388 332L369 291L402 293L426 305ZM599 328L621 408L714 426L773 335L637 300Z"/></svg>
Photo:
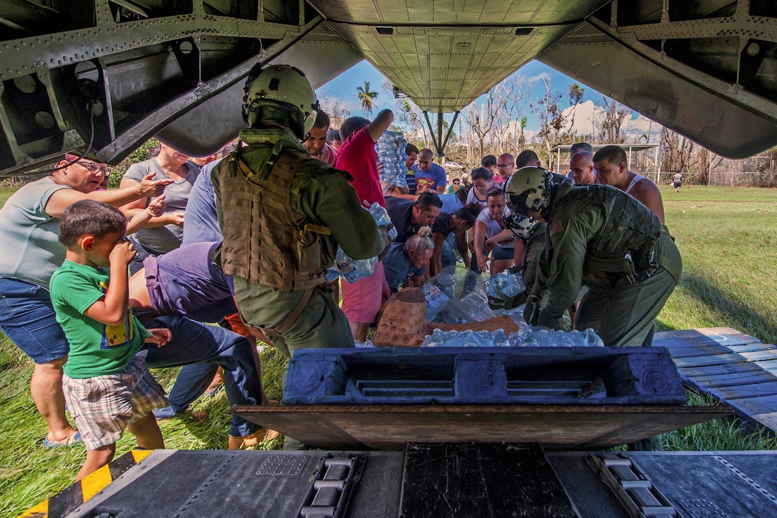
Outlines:
<svg viewBox="0 0 777 518"><path fill-rule="evenodd" d="M641 345L680 282L674 239L650 209L614 187L564 182L553 189L547 262L532 289L540 298L546 291L548 303L535 324L558 327L586 285L577 329L593 328L605 345Z"/></svg>

